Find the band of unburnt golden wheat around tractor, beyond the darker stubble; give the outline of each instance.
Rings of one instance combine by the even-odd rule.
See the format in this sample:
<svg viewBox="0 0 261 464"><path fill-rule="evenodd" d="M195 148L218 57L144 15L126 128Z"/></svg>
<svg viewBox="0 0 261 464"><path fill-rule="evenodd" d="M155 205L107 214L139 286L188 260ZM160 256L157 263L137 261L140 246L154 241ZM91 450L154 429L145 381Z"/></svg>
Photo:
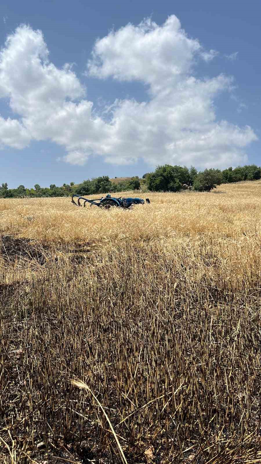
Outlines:
<svg viewBox="0 0 261 464"><path fill-rule="evenodd" d="M146 240L209 232L230 238L261 230L261 181L222 185L211 193L151 193L150 200L151 205L110 213L78 208L69 198L0 200L0 220L7 232L45 240Z"/></svg>

